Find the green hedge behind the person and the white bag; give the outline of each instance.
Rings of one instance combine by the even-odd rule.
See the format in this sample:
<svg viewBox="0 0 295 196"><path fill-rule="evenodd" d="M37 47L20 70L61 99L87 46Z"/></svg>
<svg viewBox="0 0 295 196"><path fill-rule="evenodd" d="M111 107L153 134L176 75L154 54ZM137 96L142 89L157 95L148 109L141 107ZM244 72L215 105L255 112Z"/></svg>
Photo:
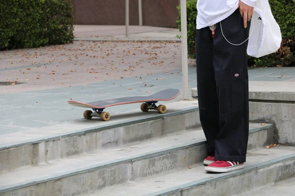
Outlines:
<svg viewBox="0 0 295 196"><path fill-rule="evenodd" d="M187 39L188 56L195 58L195 36L197 19L197 0L187 2ZM269 0L272 14L276 22L280 25L282 32L281 48L273 53L261 58L249 56L249 66L273 67L273 66L295 66L295 2L292 0ZM181 30L180 6L177 7L179 15L177 24Z"/></svg>

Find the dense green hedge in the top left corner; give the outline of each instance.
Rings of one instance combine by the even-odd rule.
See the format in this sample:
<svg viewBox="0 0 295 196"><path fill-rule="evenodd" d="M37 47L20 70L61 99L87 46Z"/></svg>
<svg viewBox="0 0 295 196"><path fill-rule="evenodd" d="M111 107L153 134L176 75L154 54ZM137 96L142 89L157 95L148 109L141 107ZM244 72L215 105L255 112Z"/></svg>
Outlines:
<svg viewBox="0 0 295 196"><path fill-rule="evenodd" d="M1 0L0 49L35 48L74 39L70 0Z"/></svg>

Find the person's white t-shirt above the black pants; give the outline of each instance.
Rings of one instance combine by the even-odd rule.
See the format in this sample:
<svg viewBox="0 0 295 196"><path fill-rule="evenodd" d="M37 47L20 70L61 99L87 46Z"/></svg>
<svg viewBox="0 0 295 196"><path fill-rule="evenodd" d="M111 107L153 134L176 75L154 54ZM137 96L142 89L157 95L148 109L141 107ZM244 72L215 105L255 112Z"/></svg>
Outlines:
<svg viewBox="0 0 295 196"><path fill-rule="evenodd" d="M254 7L256 0L241 0ZM232 15L238 8L239 0L198 0L197 29L215 25Z"/></svg>

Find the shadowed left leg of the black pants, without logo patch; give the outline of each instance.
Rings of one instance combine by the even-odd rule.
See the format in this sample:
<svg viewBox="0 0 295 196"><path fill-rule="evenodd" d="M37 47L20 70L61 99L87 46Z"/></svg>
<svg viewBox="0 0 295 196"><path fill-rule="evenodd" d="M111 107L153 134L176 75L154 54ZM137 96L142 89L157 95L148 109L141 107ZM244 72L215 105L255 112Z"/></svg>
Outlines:
<svg viewBox="0 0 295 196"><path fill-rule="evenodd" d="M208 152L214 153L219 134L219 102L213 69L213 39L209 27L196 32L197 88L201 124Z"/></svg>

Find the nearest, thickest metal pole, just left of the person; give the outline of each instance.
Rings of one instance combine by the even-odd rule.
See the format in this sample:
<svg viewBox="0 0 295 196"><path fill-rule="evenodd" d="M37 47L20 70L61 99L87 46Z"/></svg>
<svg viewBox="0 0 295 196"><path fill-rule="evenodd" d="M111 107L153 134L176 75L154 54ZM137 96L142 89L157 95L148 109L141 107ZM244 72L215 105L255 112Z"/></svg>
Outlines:
<svg viewBox="0 0 295 196"><path fill-rule="evenodd" d="M182 97L188 99L188 63L187 63L187 25L186 0L180 2L181 12L181 58L182 58Z"/></svg>

